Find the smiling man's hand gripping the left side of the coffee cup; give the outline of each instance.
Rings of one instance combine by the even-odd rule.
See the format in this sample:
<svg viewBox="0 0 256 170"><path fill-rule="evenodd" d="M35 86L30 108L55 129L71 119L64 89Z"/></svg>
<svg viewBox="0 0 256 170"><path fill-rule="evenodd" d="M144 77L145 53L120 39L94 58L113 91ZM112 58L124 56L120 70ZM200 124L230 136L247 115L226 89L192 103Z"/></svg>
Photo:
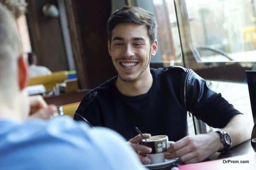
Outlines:
<svg viewBox="0 0 256 170"><path fill-rule="evenodd" d="M143 133L143 136L146 139L151 137L151 135L148 134L148 133ZM130 139L128 141L128 143L131 144L131 146L134 148L136 153L138 153L138 155L140 157L140 161L143 164L150 164L151 160L148 157L146 157L146 154L151 153L152 149L150 147L145 146L145 145L139 144L142 140L143 140L143 137L141 135L137 135L134 138Z"/></svg>

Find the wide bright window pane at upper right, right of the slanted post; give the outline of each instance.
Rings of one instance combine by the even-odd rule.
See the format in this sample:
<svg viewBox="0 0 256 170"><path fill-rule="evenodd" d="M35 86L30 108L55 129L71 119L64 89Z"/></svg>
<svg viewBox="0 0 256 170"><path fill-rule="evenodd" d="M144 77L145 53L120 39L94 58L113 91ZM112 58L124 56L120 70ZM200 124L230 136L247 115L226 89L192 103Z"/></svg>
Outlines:
<svg viewBox="0 0 256 170"><path fill-rule="evenodd" d="M192 42L203 62L256 61L254 0L186 0Z"/></svg>

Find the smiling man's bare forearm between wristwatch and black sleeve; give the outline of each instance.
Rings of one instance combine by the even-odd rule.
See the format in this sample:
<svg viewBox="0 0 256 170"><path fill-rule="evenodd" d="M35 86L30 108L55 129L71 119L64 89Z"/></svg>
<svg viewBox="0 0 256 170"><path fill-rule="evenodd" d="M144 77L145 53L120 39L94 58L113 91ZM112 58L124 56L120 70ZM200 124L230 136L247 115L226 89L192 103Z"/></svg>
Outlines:
<svg viewBox="0 0 256 170"><path fill-rule="evenodd" d="M253 129L253 119L242 114L234 116L230 122L223 128L231 137L234 147L248 139Z"/></svg>

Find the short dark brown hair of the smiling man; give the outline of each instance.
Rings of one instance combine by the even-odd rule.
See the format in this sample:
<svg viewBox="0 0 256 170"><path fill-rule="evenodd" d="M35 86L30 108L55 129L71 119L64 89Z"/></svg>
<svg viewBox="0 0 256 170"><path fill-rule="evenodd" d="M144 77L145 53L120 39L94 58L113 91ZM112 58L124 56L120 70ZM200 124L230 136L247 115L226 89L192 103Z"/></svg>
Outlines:
<svg viewBox="0 0 256 170"><path fill-rule="evenodd" d="M111 42L113 29L122 23L135 23L145 25L148 29L148 37L152 43L157 36L157 20L154 14L143 8L123 6L111 14L108 19L108 40Z"/></svg>

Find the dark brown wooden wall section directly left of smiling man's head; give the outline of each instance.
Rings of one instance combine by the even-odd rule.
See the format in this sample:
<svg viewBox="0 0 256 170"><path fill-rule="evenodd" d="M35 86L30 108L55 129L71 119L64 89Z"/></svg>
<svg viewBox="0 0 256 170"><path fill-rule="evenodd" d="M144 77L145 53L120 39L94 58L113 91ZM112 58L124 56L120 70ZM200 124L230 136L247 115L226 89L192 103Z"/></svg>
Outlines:
<svg viewBox="0 0 256 170"><path fill-rule="evenodd" d="M116 75L107 47L111 0L65 0L80 88L95 88Z"/></svg>

